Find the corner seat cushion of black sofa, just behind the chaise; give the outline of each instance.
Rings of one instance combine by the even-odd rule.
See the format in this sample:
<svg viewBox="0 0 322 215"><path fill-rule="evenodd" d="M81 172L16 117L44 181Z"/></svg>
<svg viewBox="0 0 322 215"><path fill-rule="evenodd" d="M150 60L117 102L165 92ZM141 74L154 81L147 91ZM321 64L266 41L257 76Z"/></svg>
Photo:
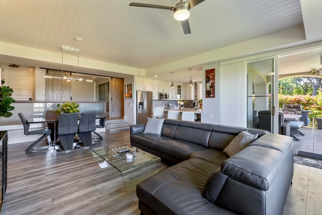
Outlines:
<svg viewBox="0 0 322 215"><path fill-rule="evenodd" d="M220 166L223 161L228 159L226 153L214 149L205 149L205 150L199 150L191 153L189 155L189 159L191 158L200 158L203 159L209 163L215 164Z"/></svg>

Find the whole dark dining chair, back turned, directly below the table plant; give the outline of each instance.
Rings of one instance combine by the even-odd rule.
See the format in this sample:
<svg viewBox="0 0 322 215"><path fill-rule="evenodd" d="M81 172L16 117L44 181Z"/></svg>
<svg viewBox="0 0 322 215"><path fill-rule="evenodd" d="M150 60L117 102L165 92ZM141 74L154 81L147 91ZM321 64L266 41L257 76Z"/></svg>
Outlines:
<svg viewBox="0 0 322 215"><path fill-rule="evenodd" d="M58 121L58 138L64 151L73 149L74 135L77 131L77 113L61 113Z"/></svg>

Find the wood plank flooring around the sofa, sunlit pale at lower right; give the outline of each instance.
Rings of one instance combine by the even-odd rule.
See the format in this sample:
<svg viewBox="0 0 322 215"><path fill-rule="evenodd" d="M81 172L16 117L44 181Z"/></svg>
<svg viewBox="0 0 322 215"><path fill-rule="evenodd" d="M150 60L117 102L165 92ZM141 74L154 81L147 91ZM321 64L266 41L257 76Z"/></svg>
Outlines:
<svg viewBox="0 0 322 215"><path fill-rule="evenodd" d="M100 133L95 147L129 143L130 131ZM89 149L25 154L29 143L8 146L8 188L2 214L140 214L135 189L121 174L101 169ZM167 167L163 162L163 168ZM321 214L322 169L295 164L283 214Z"/></svg>

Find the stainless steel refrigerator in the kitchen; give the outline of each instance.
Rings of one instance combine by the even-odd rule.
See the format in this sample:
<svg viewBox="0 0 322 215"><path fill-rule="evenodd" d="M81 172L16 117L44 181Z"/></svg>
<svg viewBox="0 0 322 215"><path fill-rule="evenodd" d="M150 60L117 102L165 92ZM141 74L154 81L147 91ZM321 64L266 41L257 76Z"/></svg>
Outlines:
<svg viewBox="0 0 322 215"><path fill-rule="evenodd" d="M136 91L136 124L146 123L152 117L152 92Z"/></svg>

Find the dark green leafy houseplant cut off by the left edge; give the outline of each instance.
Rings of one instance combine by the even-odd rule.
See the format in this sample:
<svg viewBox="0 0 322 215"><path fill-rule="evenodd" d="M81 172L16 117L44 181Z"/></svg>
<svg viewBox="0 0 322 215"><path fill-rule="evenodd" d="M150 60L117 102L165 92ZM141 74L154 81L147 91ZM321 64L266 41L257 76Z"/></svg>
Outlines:
<svg viewBox="0 0 322 215"><path fill-rule="evenodd" d="M5 84L5 80L1 80L1 85ZM6 86L0 86L0 116L11 117L10 111L14 110L15 107L11 106L11 103L16 102L11 96L14 92L13 89Z"/></svg>

